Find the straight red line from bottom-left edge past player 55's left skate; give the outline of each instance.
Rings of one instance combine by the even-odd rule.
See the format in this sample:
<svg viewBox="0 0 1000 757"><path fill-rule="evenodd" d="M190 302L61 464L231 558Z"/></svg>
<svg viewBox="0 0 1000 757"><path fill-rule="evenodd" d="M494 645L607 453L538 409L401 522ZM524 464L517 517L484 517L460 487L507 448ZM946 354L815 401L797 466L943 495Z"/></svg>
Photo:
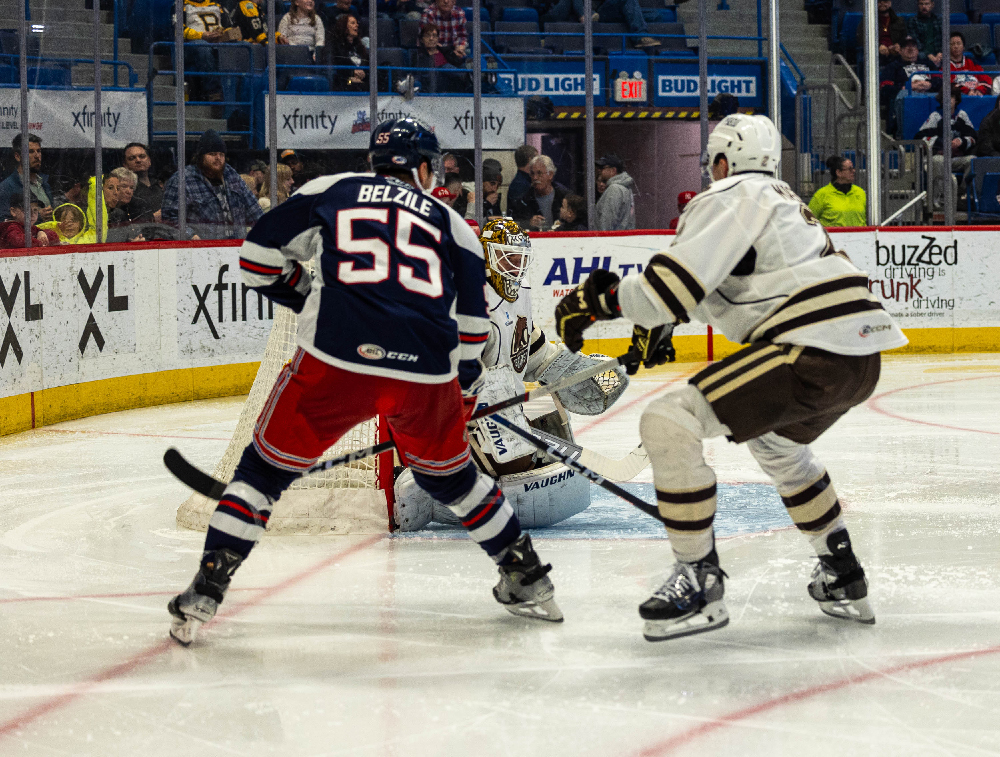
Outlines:
<svg viewBox="0 0 1000 757"><path fill-rule="evenodd" d="M325 560L321 560L320 562L313 565L311 568L307 568L301 573L294 575L291 578L282 581L281 583L277 583L274 586L270 586L266 589L261 589L260 593L257 594L253 599L243 602L242 604L236 605L229 612L224 612L217 615L214 620L206 624L206 628L212 626L215 623L218 623L220 620L235 618L237 615L240 615L246 610L249 610L267 601L275 594L280 594L286 589L290 589L296 584L305 581L307 578L311 578L312 576L325 570L331 565L341 560L344 560L350 557L351 555L356 554L357 552L361 552L362 550L367 549L373 544L381 541L382 538L383 538L382 535L379 535L379 536L373 536L369 539L365 539L363 542L355 544L353 547L348 547L343 552L339 552L336 555L333 555L332 557L328 557ZM167 614L164 612L163 614L164 631L166 630L166 622L167 622ZM16 734L25 726L35 722L44 715L47 715L50 712L62 709L63 707L72 704L77 699L80 699L84 695L92 692L102 683L106 683L107 681L112 681L116 678L121 678L122 676L128 675L132 671L143 667L144 665L146 665L149 662L152 662L161 654L163 654L168 649L171 649L174 646L175 646L174 642L171 641L169 638L164 639L158 644L154 644L153 646L148 647L147 649L144 649L141 652L137 652L136 654L132 655L132 657L125 660L124 662L119 663L118 665L112 665L109 668L105 668L99 673L91 676L86 681L81 681L80 683L77 684L71 684L70 690L67 691L65 694L59 694L58 696L50 697L41 704L38 704L28 710L25 710L20 715L17 715L11 718L10 720L7 720L4 723L0 723L0 739L2 739L5 736L11 736L13 734Z"/></svg>

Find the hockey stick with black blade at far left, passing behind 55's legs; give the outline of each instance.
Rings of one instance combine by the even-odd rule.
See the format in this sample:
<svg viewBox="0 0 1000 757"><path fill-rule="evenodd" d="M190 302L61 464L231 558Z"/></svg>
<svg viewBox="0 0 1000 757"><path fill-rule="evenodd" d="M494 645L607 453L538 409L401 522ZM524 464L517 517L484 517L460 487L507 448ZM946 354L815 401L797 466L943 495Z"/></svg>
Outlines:
<svg viewBox="0 0 1000 757"><path fill-rule="evenodd" d="M589 378L593 378L594 376L604 373L605 371L610 371L620 365L637 362L638 359L639 358L636 357L631 350L629 350L624 355L610 358L609 360L603 360L600 363L590 366L590 368L587 368L586 370L574 373L572 376L567 376L560 381L536 387L531 391L524 392L523 394L517 394L510 399L502 400L501 402L497 402L489 407L481 408L472 414L472 418L470 420L479 420L487 415L492 415L493 413L498 413L501 410L506 410L508 407L521 405L529 400L544 397L562 389L567 389L574 384L579 384L581 381L586 381ZM338 465L346 465L357 460L363 460L364 458L371 457L372 455L379 455L383 452L388 452L395 446L396 445L393 442L389 441L382 442L381 444L375 444L371 447L363 447L362 449L348 452L346 455L340 455L339 457L334 457L330 460L324 460L322 463L317 463L308 470L303 471L302 475L308 476L313 473L319 473L321 471L330 470L331 468L336 468ZM213 478L200 468L197 468L189 463L184 458L184 455L182 455L176 448L171 447L163 453L163 464L167 466L167 470L173 473L174 476L176 476L177 479L188 488L193 489L209 499L214 499L216 501L222 499L222 493L226 490L227 484Z"/></svg>

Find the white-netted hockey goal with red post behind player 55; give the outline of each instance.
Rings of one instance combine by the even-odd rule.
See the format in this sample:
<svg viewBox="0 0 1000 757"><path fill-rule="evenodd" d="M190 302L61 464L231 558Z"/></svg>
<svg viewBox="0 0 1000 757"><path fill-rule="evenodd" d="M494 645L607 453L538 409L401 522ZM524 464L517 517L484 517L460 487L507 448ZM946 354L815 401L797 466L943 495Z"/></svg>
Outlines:
<svg viewBox="0 0 1000 757"><path fill-rule="evenodd" d="M212 474L219 481L232 478L243 450L250 443L257 416L278 373L295 354L295 332L295 313L276 305L274 325L257 377L243 405L233 438ZM380 421L377 419L355 426L328 449L321 460L378 444L379 435ZM392 465L393 455L388 452L298 479L275 504L268 520L268 531L361 534L390 530ZM214 500L192 494L177 509L177 525L204 531L215 506Z"/></svg>

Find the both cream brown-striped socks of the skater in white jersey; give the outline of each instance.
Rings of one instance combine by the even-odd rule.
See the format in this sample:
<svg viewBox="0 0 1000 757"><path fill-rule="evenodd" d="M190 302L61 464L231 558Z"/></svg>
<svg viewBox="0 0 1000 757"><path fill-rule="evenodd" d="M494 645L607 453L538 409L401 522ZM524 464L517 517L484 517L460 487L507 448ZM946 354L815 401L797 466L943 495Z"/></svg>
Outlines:
<svg viewBox="0 0 1000 757"><path fill-rule="evenodd" d="M696 562L715 546L715 473L705 463L702 440L729 436L712 406L693 385L654 400L643 411L642 444L653 468L656 499L674 556ZM778 489L792 521L817 554L829 554L826 537L844 528L830 477L808 445L774 432L747 442L751 454Z"/></svg>

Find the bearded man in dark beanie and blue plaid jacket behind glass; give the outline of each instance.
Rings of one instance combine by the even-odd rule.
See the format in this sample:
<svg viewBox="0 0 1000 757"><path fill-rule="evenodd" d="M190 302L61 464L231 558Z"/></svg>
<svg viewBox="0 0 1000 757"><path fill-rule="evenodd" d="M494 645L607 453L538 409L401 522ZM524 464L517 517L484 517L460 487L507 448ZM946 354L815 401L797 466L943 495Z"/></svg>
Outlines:
<svg viewBox="0 0 1000 757"><path fill-rule="evenodd" d="M243 239L263 215L257 198L236 169L226 163L226 143L212 129L201 135L192 164L186 166L187 205L185 238ZM163 223L178 225L178 171L163 188Z"/></svg>

